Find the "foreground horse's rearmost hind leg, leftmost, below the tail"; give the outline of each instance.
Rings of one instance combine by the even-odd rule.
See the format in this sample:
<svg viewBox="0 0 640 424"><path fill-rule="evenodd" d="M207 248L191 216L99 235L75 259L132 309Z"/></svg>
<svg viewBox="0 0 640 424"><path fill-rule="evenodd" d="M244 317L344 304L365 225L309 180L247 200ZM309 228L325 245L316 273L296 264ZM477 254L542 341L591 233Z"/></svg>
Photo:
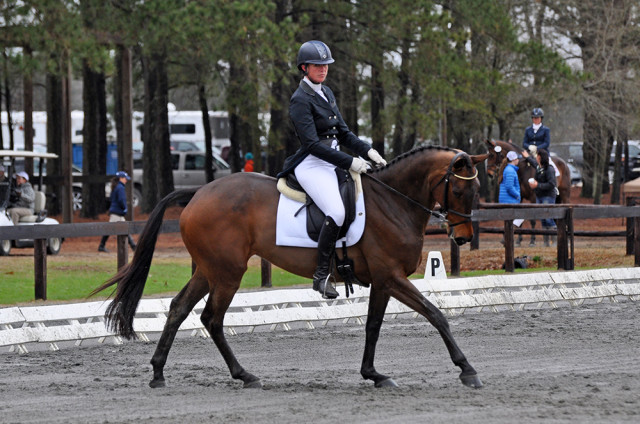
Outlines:
<svg viewBox="0 0 640 424"><path fill-rule="evenodd" d="M182 322L189 316L194 306L209 292L207 279L196 269L196 272L180 293L171 301L169 316L162 330L160 340L156 346L156 351L151 358L153 365L153 380L149 382L150 387L164 387L164 365L167 362L169 350L176 337Z"/></svg>

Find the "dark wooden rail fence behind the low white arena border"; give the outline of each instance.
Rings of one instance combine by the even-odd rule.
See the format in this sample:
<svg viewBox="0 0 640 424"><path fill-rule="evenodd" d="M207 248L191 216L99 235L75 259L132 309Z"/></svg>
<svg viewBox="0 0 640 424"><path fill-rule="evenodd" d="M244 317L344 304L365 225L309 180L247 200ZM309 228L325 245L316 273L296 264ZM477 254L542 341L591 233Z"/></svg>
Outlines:
<svg viewBox="0 0 640 424"><path fill-rule="evenodd" d="M503 221L505 239L505 271L514 271L514 232L526 232L535 234L549 234L549 230L514 230L514 219L539 220L552 218L557 224L557 257L558 269L574 269L574 237L578 234L573 229L575 220L598 218L626 218L627 228L627 252L632 251L635 260L634 266L640 266L640 207L638 206L591 206L591 205L530 205L530 204L495 204L481 203L478 209L473 210L471 220L475 227L472 248L478 247L479 234L482 229L479 223L483 221ZM34 280L35 298L46 300L47 287L47 255L46 241L52 237L95 237L103 235L117 236L118 269L128 262L127 235L138 234L146 225L146 221L133 222L95 222L59 225L24 225L16 227L0 227L0 240L33 239L34 240ZM166 220L162 223L161 233L179 232L178 220ZM444 230L429 230L429 232L443 232ZM592 234L591 234L592 235ZM610 236L622 235L620 233ZM460 250L451 242L450 273L460 275ZM262 285L271 285L270 264L262 262Z"/></svg>

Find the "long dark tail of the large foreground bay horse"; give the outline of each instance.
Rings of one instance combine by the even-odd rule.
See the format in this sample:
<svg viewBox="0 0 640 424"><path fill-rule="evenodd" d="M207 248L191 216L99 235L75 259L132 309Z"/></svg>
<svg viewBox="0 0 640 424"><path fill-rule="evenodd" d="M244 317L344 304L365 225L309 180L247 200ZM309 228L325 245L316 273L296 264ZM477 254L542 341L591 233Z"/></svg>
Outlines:
<svg viewBox="0 0 640 424"><path fill-rule="evenodd" d="M105 313L106 325L112 331L117 332L126 339L135 337L133 331L133 316L136 313L138 302L142 297L144 285L149 275L149 267L153 252L158 240L158 233L162 226L164 212L174 201L188 201L193 197L198 188L176 190L162 199L149 215L131 263L122 267L116 275L107 280L103 285L96 288L89 296L92 296L107 287L117 284L115 297L107 307Z"/></svg>

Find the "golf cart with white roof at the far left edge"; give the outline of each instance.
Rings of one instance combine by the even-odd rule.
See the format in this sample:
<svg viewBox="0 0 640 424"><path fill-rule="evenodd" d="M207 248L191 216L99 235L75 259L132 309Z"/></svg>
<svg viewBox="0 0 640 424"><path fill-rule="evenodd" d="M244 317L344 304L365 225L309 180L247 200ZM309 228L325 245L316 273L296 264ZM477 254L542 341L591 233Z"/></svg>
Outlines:
<svg viewBox="0 0 640 424"><path fill-rule="evenodd" d="M15 180L13 175L16 171L15 162L16 158L24 160L25 158L39 158L39 166L42 168L45 159L55 159L58 155L53 153L39 153L31 151L16 151L16 150L0 150L0 164L4 165L5 174L7 176L6 181L0 181L0 227L13 226L13 222L9 217L7 211L9 205L9 199L11 192L15 188ZM42 189L42 169L39 172L40 180L38 187L36 188L35 181L32 182L33 189L36 193L34 202L34 214L29 216L23 216L20 218L18 225L55 225L59 222L53 218L47 217L47 210L45 208L46 196ZM62 247L62 238L53 237L47 240L47 253L50 255L57 255ZM0 256L7 256L12 247L33 247L33 240L20 239L20 240L0 240Z"/></svg>

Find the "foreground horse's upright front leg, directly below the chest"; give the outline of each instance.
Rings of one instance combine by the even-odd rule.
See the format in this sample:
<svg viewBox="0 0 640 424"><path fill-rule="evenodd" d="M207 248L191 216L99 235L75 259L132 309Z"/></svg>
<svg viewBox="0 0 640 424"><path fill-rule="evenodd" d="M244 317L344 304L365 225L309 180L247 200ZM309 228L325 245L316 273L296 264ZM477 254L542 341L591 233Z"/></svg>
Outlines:
<svg viewBox="0 0 640 424"><path fill-rule="evenodd" d="M369 312L367 314L366 339L364 356L360 374L365 380L372 380L376 387L398 387L390 377L378 373L373 365L376 354L376 344L380 336L380 327L384 319L384 311L389 303L389 295L375 286L371 287L369 295Z"/></svg>

